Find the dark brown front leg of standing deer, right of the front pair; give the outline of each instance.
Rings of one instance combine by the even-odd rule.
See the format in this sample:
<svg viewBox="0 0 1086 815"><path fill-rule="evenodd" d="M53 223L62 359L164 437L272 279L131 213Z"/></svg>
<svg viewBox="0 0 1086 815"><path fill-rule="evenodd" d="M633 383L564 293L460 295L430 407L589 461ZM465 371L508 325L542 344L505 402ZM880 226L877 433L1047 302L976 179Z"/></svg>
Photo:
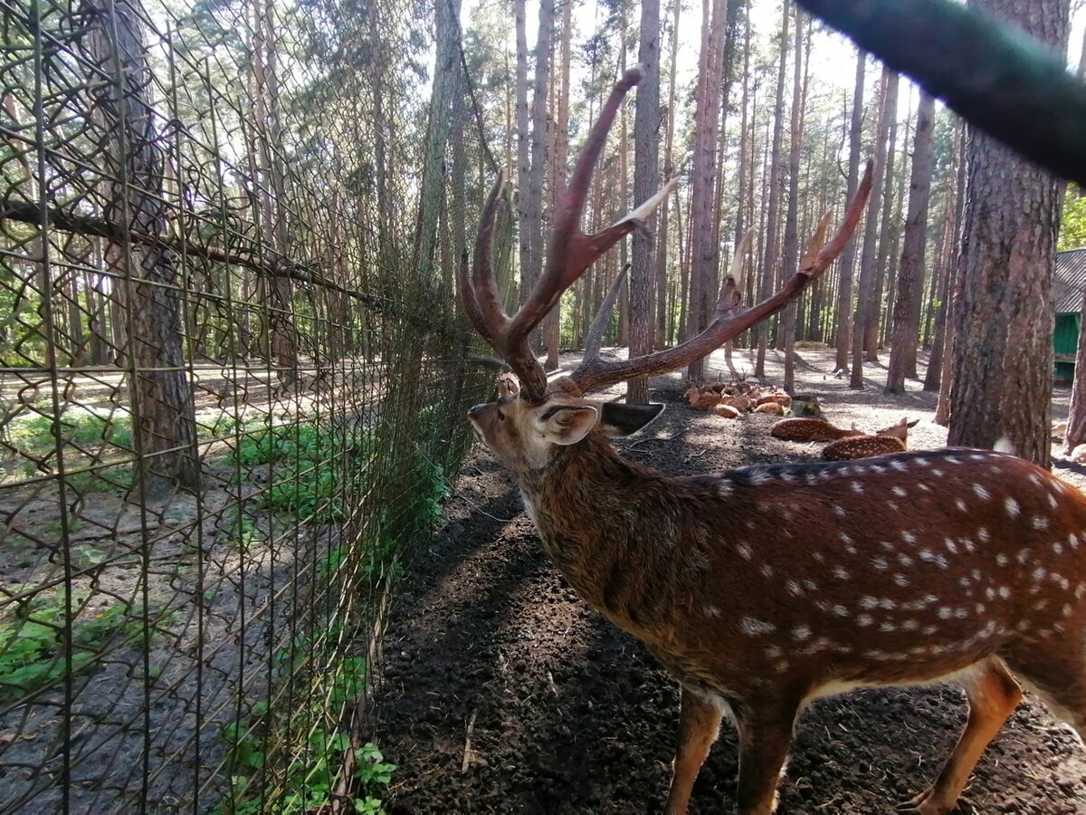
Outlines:
<svg viewBox="0 0 1086 815"><path fill-rule="evenodd" d="M770 815L776 808L776 785L788 757L798 705L750 711L740 720L738 815Z"/></svg>

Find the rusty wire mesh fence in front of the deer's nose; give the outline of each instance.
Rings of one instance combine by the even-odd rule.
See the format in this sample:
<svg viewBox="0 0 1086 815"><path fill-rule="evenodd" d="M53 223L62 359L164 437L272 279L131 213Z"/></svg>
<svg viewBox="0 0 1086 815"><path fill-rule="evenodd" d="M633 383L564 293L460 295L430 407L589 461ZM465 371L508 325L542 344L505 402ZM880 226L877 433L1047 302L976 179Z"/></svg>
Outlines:
<svg viewBox="0 0 1086 815"><path fill-rule="evenodd" d="M380 0L0 8L0 811L376 806L381 615L492 381L464 61Z"/></svg>

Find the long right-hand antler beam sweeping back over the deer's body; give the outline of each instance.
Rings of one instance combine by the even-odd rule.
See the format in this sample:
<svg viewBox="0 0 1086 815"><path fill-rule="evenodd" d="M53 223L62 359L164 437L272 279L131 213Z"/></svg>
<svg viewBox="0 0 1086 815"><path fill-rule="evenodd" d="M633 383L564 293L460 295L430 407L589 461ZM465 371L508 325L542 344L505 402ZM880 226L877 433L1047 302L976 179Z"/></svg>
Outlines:
<svg viewBox="0 0 1086 815"><path fill-rule="evenodd" d="M760 321L783 309L792 300L798 297L799 292L801 292L808 284L811 283L811 280L816 279L830 267L830 264L841 253L841 250L845 248L845 244L848 243L849 239L853 237L853 234L856 231L856 227L860 223L860 218L863 215L863 206L867 203L868 196L871 192L871 174L873 166L873 162L869 161L863 173L863 179L860 181L860 186L856 190L856 197L849 203L848 210L845 213L845 218L842 222L841 227L837 229L837 233L833 236L829 243L821 246L821 239L819 238L819 231L821 231L820 227L820 229L816 231L816 236L811 241L811 249L808 250L808 256L804 259L803 265L796 271L796 274L792 276L792 279L790 279L776 293L766 300L762 300L760 303L750 306L749 309L738 312L737 314L721 313L720 306L727 306L727 298L722 293L721 300L718 301L718 310L712 323L710 323L709 326L696 337L693 337L686 342L675 346L674 348L657 351L655 353L646 354L645 356L639 356L632 360L624 360L620 362L604 362L601 360L594 360L578 367L577 371L572 373L570 378L577 384L582 392L586 392L592 388L597 388L603 385L611 385L635 376L652 376L654 374L674 371L675 368L680 368L696 359L705 356L715 349L720 348L720 346L728 340L738 334L742 334L750 326L756 325ZM823 221L825 220L823 218ZM813 258L811 258L811 255L813 255ZM725 311L730 311L730 309L725 308Z"/></svg>

